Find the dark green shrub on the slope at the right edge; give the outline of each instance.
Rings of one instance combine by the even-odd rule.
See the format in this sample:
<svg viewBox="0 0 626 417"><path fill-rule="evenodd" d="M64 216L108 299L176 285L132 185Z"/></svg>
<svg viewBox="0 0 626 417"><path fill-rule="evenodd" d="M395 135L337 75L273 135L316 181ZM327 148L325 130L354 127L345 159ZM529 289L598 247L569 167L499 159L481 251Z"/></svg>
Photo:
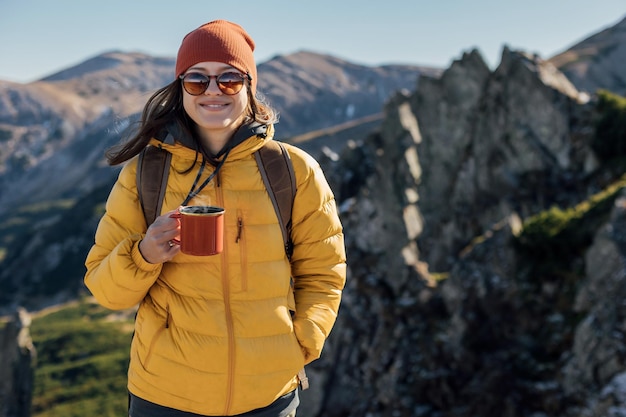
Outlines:
<svg viewBox="0 0 626 417"><path fill-rule="evenodd" d="M604 162L626 156L626 97L600 90L596 112L591 145L596 155Z"/></svg>

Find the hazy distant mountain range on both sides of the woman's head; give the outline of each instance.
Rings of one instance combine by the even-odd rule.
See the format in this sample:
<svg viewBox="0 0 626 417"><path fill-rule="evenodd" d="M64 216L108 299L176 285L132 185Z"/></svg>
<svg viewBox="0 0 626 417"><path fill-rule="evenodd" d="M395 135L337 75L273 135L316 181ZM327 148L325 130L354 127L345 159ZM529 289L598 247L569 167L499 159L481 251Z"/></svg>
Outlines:
<svg viewBox="0 0 626 417"><path fill-rule="evenodd" d="M30 84L0 84L0 213L9 207L81 195L114 175L103 165L157 88L174 78L174 59L109 52ZM415 89L419 66L367 67L310 52L259 65L259 90L278 109L278 136L379 113L397 90ZM55 178L55 181L50 181Z"/></svg>

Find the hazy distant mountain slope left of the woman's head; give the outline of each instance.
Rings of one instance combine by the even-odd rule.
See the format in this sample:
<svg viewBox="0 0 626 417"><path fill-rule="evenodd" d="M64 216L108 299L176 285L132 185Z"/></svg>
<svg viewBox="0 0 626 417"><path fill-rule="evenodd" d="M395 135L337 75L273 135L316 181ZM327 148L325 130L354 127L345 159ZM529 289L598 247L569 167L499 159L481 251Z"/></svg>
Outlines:
<svg viewBox="0 0 626 417"><path fill-rule="evenodd" d="M173 62L112 52L48 81L0 82L0 213L100 184L110 175L101 171L104 148L172 78Z"/></svg>

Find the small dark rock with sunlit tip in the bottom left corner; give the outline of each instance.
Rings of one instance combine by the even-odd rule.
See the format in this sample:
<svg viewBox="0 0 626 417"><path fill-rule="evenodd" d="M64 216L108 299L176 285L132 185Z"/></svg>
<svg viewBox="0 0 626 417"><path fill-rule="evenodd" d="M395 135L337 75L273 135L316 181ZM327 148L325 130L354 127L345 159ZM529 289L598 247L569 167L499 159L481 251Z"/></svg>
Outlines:
<svg viewBox="0 0 626 417"><path fill-rule="evenodd" d="M0 329L0 417L30 417L37 354L30 338L31 318L18 309Z"/></svg>

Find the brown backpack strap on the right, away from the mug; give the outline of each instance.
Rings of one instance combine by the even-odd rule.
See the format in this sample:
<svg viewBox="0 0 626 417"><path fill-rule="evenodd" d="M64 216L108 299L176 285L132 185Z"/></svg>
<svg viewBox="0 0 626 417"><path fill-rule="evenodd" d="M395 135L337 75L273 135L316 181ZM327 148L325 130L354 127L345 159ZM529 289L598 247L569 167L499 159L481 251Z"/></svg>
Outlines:
<svg viewBox="0 0 626 417"><path fill-rule="evenodd" d="M291 259L293 253L291 210L296 195L296 176L291 158L285 146L275 140L267 141L254 153L254 157L280 223L285 252Z"/></svg>

